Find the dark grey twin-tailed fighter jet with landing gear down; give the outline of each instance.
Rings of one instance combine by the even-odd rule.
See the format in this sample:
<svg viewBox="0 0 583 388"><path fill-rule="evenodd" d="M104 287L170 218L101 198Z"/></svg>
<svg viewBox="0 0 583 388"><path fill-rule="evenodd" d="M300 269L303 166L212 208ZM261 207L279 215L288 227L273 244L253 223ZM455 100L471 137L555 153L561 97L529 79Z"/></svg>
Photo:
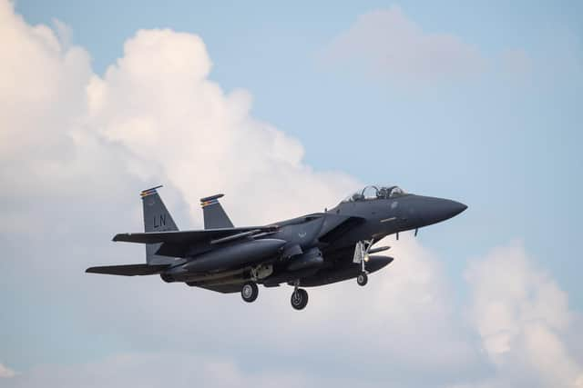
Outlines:
<svg viewBox="0 0 583 388"><path fill-rule="evenodd" d="M179 231L158 194L141 192L144 233L116 234L115 242L146 245L146 264L87 268L92 274L158 274L167 283L185 283L220 293L240 293L253 302L258 284L293 286L292 307L302 310L301 287L356 278L359 285L393 262L374 247L389 234L445 221L467 206L448 199L407 194L398 186L366 186L322 213L261 226L235 227L219 203L223 194L200 199L204 230Z"/></svg>

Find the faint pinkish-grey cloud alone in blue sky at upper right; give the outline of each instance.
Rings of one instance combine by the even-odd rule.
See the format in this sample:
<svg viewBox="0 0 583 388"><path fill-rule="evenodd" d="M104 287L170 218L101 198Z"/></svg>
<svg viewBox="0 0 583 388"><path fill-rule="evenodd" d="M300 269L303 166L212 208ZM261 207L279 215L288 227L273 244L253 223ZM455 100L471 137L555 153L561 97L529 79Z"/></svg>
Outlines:
<svg viewBox="0 0 583 388"><path fill-rule="evenodd" d="M323 53L328 64L411 82L450 81L479 75L486 58L475 45L445 33L427 33L400 7L360 15Z"/></svg>

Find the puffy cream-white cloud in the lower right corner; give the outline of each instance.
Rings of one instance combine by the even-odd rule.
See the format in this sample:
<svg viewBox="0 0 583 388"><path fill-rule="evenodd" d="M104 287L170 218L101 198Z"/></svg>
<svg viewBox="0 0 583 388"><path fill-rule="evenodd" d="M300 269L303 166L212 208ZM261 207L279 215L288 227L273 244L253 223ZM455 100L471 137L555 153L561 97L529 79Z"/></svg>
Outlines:
<svg viewBox="0 0 583 388"><path fill-rule="evenodd" d="M580 387L583 366L568 352L568 296L527 258L521 244L471 264L469 317L498 385Z"/></svg>

